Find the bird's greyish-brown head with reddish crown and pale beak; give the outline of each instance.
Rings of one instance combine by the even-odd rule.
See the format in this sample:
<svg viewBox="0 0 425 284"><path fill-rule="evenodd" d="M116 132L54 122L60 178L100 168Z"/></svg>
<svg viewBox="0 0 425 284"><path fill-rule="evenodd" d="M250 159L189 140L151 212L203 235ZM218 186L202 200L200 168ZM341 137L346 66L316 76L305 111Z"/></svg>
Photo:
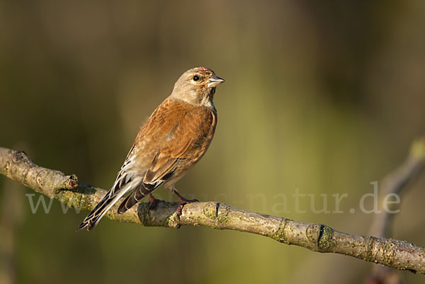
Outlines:
<svg viewBox="0 0 425 284"><path fill-rule="evenodd" d="M211 69L197 67L184 72L174 84L171 98L191 103L195 106L213 106L215 87L224 79L217 76Z"/></svg>

